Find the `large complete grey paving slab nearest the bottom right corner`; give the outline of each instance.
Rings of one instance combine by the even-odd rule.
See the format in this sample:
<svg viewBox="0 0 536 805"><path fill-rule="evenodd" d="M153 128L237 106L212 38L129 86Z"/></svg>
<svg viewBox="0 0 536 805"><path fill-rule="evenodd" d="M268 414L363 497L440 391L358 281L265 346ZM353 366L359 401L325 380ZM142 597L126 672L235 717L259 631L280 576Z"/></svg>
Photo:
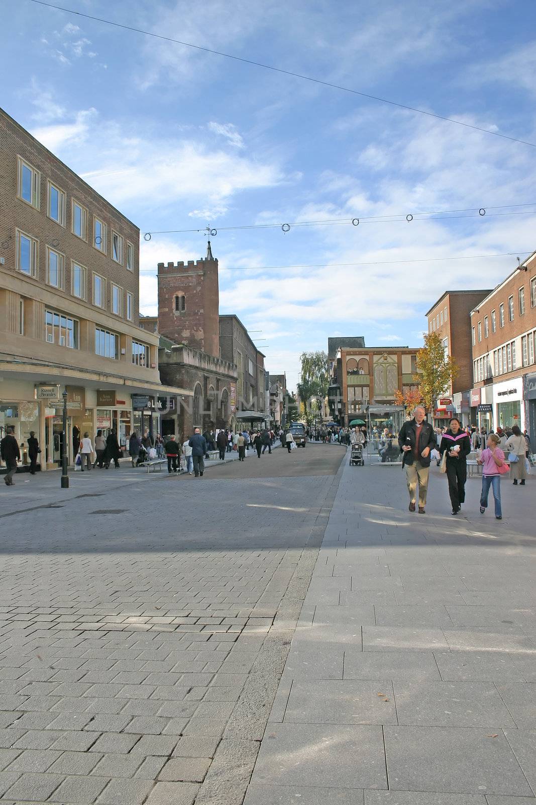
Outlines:
<svg viewBox="0 0 536 805"><path fill-rule="evenodd" d="M532 794L500 730L385 727L384 736L391 790Z"/></svg>

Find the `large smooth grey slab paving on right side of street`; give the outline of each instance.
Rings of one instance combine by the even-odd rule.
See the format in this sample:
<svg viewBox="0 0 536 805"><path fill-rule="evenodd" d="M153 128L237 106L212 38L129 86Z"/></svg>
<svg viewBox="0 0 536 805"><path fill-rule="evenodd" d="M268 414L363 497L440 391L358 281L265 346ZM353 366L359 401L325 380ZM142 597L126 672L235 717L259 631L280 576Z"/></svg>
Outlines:
<svg viewBox="0 0 536 805"><path fill-rule="evenodd" d="M534 479L345 464L244 805L536 803Z"/></svg>

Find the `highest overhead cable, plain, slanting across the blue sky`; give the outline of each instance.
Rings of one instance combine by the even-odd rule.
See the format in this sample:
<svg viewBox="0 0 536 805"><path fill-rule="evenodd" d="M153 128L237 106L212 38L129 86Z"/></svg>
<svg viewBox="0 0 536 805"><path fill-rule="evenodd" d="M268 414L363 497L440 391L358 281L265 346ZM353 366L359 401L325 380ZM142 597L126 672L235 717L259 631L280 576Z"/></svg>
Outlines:
<svg viewBox="0 0 536 805"><path fill-rule="evenodd" d="M205 53L211 53L212 56L223 56L225 59L240 61L243 64L252 64L255 67L263 68L264 70L272 70L272 72L280 72L284 76L293 76L293 78L299 78L301 79L301 81L310 81L313 84L319 84L325 87L329 87L330 89L339 89L345 93L352 93L353 95L358 95L360 97L367 98L369 101L379 101L380 103L396 106L398 109L406 109L409 112L415 112L418 114L427 115L428 118L436 118L437 120L444 120L448 123L454 123L456 124L456 126L464 126L466 129L481 131L484 134L493 134L494 137L501 137L502 139L510 140L511 142L520 142L522 145L536 148L535 142L528 142L527 140L518 139L517 137L510 137L508 134L501 134L498 131L485 129L482 126L473 126L472 123L466 123L462 120L456 120L456 118L447 118L442 114L436 114L435 112L428 112L426 109L418 109L415 106L409 106L407 104L398 103L397 101L390 101L388 98L378 97L378 95L370 95L370 93L362 93L359 92L358 89L350 89L350 87L343 87L342 85L339 84L333 84L330 81L322 81L320 78L313 78L312 76L304 76L299 72L292 72L291 70L284 70L283 68L280 67L274 67L272 64L262 64L262 62L260 61L254 61L252 59L244 59L243 56L233 56L231 53L223 53L222 51L213 50L210 47L203 47L202 45L194 45L191 42L183 42L181 39L173 39L171 36L155 34L152 31L144 31L142 28L135 28L131 25L125 25L124 23L113 23L113 21L110 19L95 17L92 16L92 14L84 14L82 11L75 11L74 9L71 8L65 8L64 6L56 6L53 3L44 2L44 0L30 0L30 2L34 2L39 6L47 6L47 8L54 8L58 11L64 11L66 14L76 14L76 16L78 17L85 17L86 19L92 19L96 23L113 25L113 27L123 28L125 31L133 31L134 33L137 34L152 36L154 39L164 39L166 42L173 42L174 44L182 45L183 47L191 47L194 50L203 51Z"/></svg>

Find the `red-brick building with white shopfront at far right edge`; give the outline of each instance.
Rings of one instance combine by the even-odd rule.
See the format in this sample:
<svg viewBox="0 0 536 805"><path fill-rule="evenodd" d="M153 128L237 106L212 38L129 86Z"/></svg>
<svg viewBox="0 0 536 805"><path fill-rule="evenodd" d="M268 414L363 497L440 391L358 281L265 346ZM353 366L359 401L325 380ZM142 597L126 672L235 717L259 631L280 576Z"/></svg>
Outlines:
<svg viewBox="0 0 536 805"><path fill-rule="evenodd" d="M478 424L527 428L536 444L536 252L471 311Z"/></svg>

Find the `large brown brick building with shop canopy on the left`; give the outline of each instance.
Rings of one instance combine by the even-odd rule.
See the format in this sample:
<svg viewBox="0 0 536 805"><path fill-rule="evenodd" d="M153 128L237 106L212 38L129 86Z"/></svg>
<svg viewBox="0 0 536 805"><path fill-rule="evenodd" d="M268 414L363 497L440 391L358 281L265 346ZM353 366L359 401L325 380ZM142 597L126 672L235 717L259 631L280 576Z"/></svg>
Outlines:
<svg viewBox="0 0 536 805"><path fill-rule="evenodd" d="M112 427L123 447L170 394L158 338L137 326L139 229L0 110L0 436L39 438L41 469L77 433ZM149 413L146 415L149 417ZM145 419L145 423L152 423ZM73 443L74 437L74 443Z"/></svg>

